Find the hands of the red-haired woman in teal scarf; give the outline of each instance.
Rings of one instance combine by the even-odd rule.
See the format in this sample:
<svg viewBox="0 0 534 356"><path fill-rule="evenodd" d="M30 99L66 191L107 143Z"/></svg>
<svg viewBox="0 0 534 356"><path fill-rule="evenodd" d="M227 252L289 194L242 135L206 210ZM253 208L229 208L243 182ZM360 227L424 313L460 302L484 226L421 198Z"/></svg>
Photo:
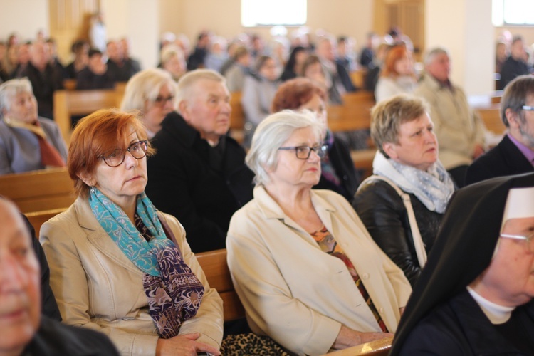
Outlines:
<svg viewBox="0 0 534 356"><path fill-rule="evenodd" d="M198 352L207 352L219 356L221 352L213 346L197 342L199 333L177 335L170 339L159 339L156 345L156 356L165 355L192 355L197 356Z"/></svg>

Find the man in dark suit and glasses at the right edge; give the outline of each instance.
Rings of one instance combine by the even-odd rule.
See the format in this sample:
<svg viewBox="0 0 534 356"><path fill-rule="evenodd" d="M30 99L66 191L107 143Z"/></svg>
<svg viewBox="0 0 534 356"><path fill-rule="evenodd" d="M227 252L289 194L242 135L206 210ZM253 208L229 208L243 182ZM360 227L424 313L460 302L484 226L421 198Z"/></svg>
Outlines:
<svg viewBox="0 0 534 356"><path fill-rule="evenodd" d="M534 172L534 77L521 75L506 86L501 118L508 132L468 167L466 184Z"/></svg>

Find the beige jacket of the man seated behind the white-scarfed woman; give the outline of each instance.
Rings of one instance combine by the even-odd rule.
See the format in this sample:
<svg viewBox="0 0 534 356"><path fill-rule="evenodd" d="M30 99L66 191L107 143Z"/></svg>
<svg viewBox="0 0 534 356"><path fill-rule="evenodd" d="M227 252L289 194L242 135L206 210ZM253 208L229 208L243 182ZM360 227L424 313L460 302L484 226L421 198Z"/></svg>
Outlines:
<svg viewBox="0 0 534 356"><path fill-rule="evenodd" d="M469 108L464 90L445 88L431 75L424 75L415 90L430 105L430 118L438 137L439 160L446 169L473 162L476 145L484 147L486 128Z"/></svg>

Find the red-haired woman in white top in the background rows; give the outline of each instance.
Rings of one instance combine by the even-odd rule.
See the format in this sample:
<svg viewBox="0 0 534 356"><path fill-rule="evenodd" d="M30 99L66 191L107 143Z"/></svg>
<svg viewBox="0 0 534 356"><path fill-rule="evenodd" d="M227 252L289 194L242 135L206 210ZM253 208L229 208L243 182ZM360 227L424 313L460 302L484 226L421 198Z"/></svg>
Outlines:
<svg viewBox="0 0 534 356"><path fill-rule="evenodd" d="M415 88L417 80L414 75L412 53L406 46L389 48L375 88L375 99L379 102L397 94L409 94Z"/></svg>

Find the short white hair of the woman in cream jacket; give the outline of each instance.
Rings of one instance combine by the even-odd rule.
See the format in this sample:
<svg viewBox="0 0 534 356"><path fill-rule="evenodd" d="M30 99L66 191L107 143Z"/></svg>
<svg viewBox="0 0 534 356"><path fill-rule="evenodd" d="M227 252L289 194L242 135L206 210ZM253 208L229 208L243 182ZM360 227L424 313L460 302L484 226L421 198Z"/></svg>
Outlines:
<svg viewBox="0 0 534 356"><path fill-rule="evenodd" d="M278 148L282 147L293 132L307 127L311 127L315 137L321 140L324 125L310 111L283 110L260 122L252 137L251 150L245 158L246 165L256 174L256 185L269 182L267 170L276 169Z"/></svg>

